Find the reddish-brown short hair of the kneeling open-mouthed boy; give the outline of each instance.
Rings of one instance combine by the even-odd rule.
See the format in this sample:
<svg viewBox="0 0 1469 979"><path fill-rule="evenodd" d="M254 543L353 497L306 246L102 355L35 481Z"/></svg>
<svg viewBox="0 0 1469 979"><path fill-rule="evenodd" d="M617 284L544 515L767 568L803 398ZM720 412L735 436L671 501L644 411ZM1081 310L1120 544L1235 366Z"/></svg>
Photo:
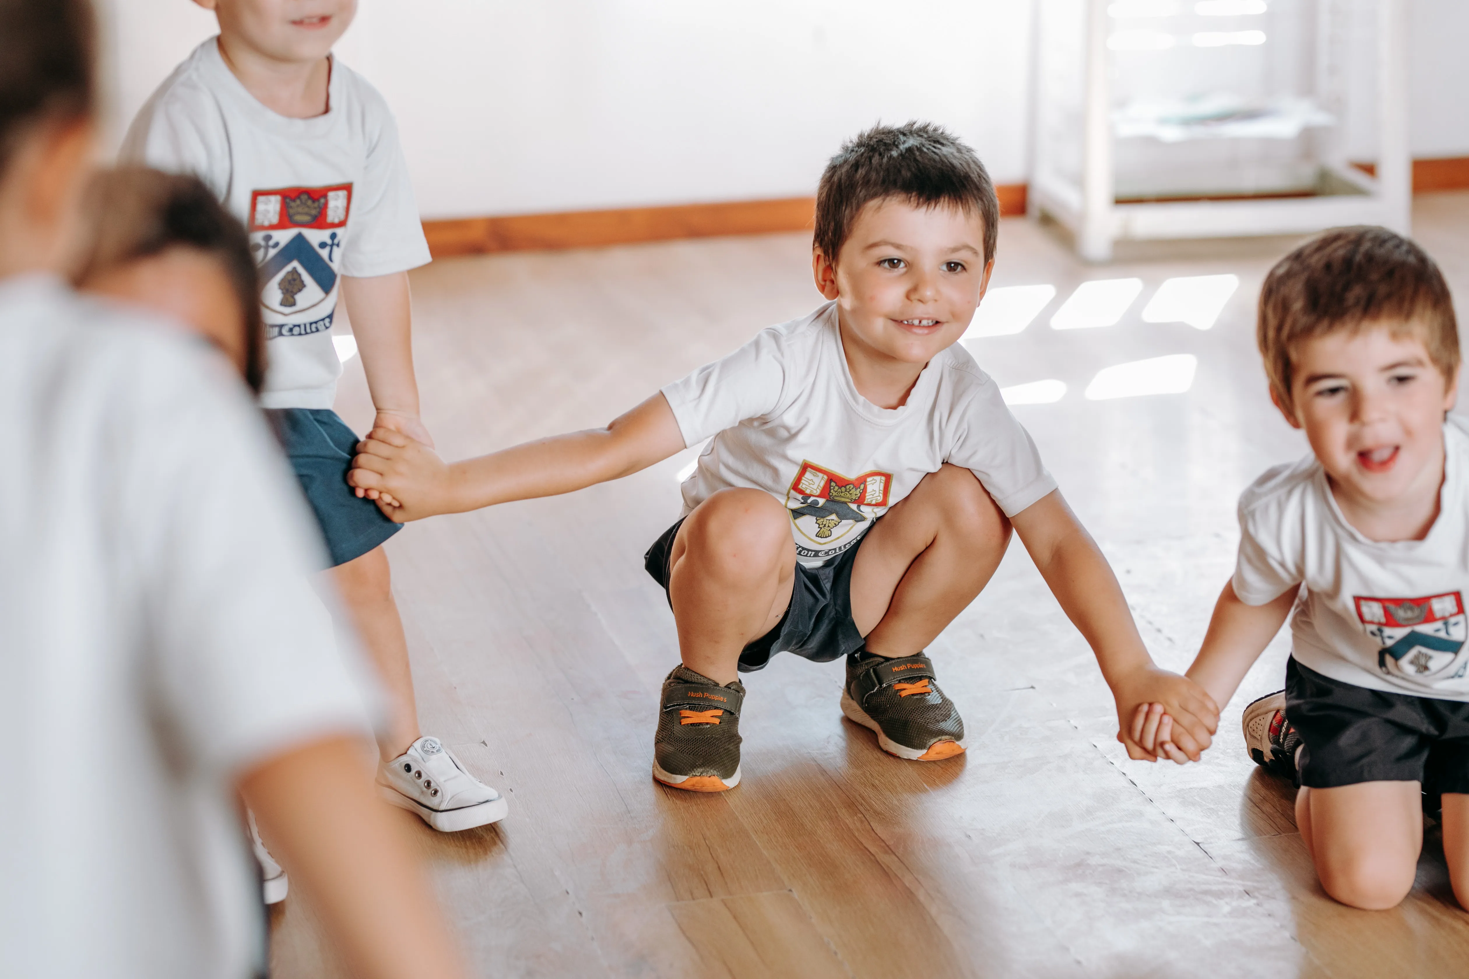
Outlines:
<svg viewBox="0 0 1469 979"><path fill-rule="evenodd" d="M1422 341L1454 383L1459 324L1448 283L1412 241L1385 228L1338 228L1275 263L1260 289L1255 336L1279 404L1291 407L1291 352L1302 341L1371 326Z"/></svg>

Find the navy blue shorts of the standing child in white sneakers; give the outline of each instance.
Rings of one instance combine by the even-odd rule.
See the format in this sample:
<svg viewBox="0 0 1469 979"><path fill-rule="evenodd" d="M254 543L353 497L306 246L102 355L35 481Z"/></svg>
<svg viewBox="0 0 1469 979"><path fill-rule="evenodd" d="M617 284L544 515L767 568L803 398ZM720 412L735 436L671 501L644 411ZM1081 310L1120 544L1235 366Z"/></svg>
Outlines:
<svg viewBox="0 0 1469 979"><path fill-rule="evenodd" d="M378 503L360 499L347 484L360 439L335 411L267 408L266 415L316 512L333 568L361 558L401 530Z"/></svg>

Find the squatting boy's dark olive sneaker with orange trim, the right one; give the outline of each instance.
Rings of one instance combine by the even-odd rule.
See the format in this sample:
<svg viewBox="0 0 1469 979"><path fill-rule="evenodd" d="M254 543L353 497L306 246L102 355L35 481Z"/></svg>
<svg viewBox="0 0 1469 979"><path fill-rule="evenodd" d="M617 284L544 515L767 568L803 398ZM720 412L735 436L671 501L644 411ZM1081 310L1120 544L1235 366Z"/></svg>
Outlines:
<svg viewBox="0 0 1469 979"><path fill-rule="evenodd" d="M842 713L877 732L889 754L937 762L964 753L964 719L934 683L923 653L887 659L859 649L846 658Z"/></svg>

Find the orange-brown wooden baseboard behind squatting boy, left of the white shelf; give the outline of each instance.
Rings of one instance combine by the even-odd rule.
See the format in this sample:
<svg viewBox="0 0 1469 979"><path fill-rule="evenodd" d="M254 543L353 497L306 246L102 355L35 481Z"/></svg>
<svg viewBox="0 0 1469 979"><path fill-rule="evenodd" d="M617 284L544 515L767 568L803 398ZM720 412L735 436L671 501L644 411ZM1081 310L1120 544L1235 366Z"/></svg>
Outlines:
<svg viewBox="0 0 1469 979"><path fill-rule="evenodd" d="M1025 213L1025 185L997 186L1000 214ZM814 197L423 222L435 258L809 230Z"/></svg>

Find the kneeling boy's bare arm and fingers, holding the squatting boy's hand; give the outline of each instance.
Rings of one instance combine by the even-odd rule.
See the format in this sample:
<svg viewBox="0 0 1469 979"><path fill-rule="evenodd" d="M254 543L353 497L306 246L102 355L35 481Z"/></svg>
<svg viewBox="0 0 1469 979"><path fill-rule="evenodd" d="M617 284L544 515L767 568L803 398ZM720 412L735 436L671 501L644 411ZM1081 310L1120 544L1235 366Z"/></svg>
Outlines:
<svg viewBox="0 0 1469 979"><path fill-rule="evenodd" d="M1281 631L1285 616L1296 603L1297 592L1299 587L1285 589L1265 605L1246 605L1234 593L1234 583L1227 581L1219 600L1213 605L1209 631L1205 633L1203 646L1199 647L1187 677L1203 687L1215 703L1228 703L1244 674L1250 672L1250 666L1275 638L1275 633ZM1168 750L1174 724L1165 706L1138 705L1128 734L1146 750L1168 754L1183 763L1184 759Z"/></svg>

